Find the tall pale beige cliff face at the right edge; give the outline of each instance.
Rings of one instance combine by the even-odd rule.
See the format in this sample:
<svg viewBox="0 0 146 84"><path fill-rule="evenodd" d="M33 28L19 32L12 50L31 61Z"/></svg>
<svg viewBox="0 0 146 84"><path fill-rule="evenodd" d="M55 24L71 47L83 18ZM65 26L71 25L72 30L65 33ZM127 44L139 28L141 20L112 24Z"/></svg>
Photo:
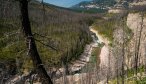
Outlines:
<svg viewBox="0 0 146 84"><path fill-rule="evenodd" d="M135 52L138 52L139 65L144 65L146 59L146 17L141 16L140 13L130 13L127 17L127 26L132 30L134 35L128 44L129 54L126 64L133 67Z"/></svg>

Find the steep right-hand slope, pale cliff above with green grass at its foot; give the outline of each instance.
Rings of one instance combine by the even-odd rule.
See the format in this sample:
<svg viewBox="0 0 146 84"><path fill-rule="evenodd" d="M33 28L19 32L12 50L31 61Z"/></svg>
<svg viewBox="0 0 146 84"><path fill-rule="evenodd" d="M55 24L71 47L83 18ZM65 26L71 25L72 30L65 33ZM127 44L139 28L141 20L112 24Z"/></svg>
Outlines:
<svg viewBox="0 0 146 84"><path fill-rule="evenodd" d="M124 60L124 82L125 84L145 84L145 50L146 50L146 17L145 12L139 11L137 13L129 13L125 17L125 27L128 27L131 31L131 36L128 36L129 33L123 34L123 32L118 29L115 31L114 40L114 56L116 56L118 70L122 71L122 61ZM121 26L120 26L121 27ZM121 31L121 32L120 32ZM125 46L122 47L122 38L128 38L129 40L125 41ZM117 38L116 38L117 37ZM123 49L123 50L122 50ZM124 55L123 55L124 53ZM124 56L124 59L122 58ZM120 69L121 68L121 69ZM122 77L120 77L122 78ZM122 80L115 78L110 81L111 84L122 82Z"/></svg>

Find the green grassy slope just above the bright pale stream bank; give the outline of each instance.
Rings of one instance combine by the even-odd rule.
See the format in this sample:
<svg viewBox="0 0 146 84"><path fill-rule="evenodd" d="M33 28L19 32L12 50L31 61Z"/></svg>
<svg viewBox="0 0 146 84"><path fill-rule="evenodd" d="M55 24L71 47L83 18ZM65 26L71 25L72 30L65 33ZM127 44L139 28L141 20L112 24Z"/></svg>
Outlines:
<svg viewBox="0 0 146 84"><path fill-rule="evenodd" d="M115 14L107 14L106 16L112 17L114 15ZM131 37L133 36L132 30L126 24L126 17L123 17L119 20L117 20L116 18L110 18L110 20L98 19L93 24L93 28L97 30L100 35L110 41L109 46L112 46L112 42L114 40L113 33L115 29L121 28L124 30L126 44L128 44L128 42L131 40Z"/></svg>

